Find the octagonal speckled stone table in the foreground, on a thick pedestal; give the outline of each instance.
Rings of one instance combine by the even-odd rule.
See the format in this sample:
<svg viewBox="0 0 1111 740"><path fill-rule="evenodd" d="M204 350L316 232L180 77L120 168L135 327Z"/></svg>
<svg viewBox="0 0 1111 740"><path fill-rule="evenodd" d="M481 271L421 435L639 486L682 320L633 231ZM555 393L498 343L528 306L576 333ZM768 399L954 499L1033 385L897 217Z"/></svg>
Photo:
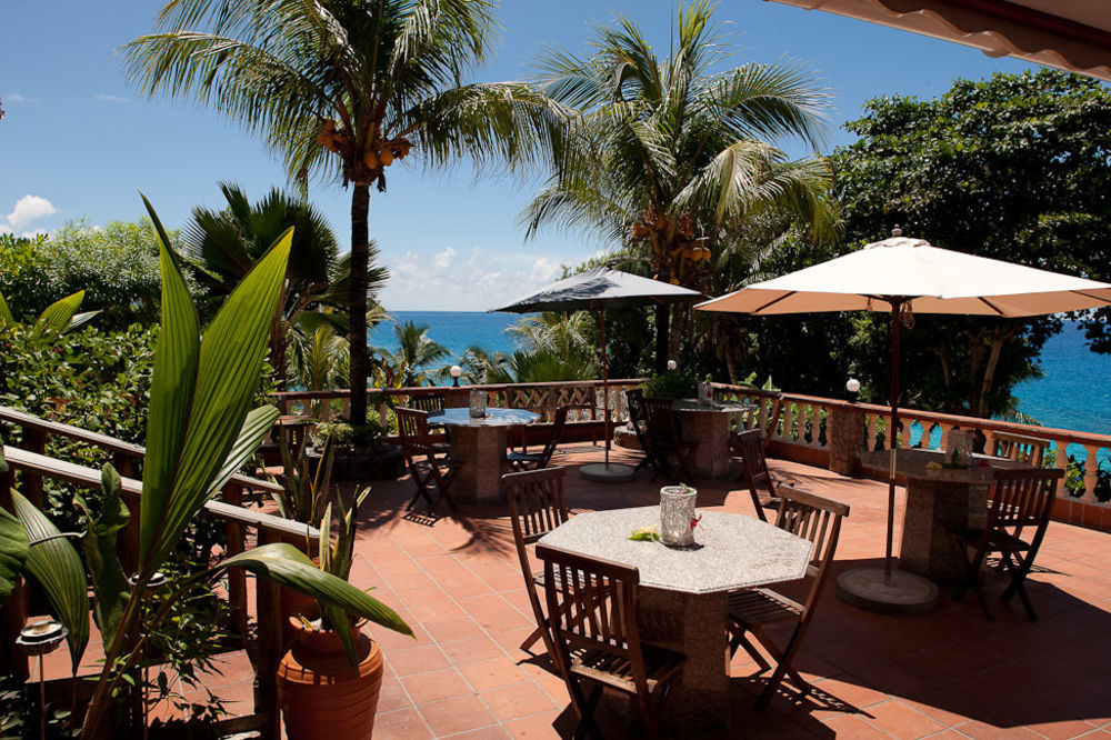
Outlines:
<svg viewBox="0 0 1111 740"><path fill-rule="evenodd" d="M669 737L727 729L731 708L727 594L802 578L812 549L808 540L754 517L699 513L702 519L690 548L629 540L634 529L660 523L659 507L581 513L540 540L639 569L641 640L687 656L663 704ZM608 701L628 717L635 713L621 697Z"/></svg>

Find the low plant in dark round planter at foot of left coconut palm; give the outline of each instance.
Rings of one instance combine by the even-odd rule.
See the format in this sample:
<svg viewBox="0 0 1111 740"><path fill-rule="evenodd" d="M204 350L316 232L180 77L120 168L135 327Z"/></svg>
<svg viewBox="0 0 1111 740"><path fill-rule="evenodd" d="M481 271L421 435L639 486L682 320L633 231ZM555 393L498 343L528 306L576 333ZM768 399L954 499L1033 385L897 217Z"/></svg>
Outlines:
<svg viewBox="0 0 1111 740"><path fill-rule="evenodd" d="M323 421L312 432L313 449L308 451L311 470L316 470L324 440L333 448L332 474L337 480L381 480L404 472L401 448L386 442L386 426L374 411L367 411L367 423L352 427L343 420Z"/></svg>

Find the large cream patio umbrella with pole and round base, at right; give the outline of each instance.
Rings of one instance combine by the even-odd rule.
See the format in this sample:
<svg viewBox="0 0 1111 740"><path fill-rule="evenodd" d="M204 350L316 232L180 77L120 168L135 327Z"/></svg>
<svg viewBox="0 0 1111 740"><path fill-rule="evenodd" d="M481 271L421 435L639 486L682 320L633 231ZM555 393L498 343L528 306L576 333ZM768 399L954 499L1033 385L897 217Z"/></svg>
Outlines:
<svg viewBox="0 0 1111 740"><path fill-rule="evenodd" d="M974 254L932 247L922 239L901 236L821 264L758 282L742 290L695 306L704 311L733 311L755 316L818 311L891 312L891 424L892 450L888 474L887 554L882 569L849 571L839 589L858 589L854 602L890 611L908 611L932 600L937 589L891 568L895 490L895 430L899 427L900 317L912 313L962 313L1029 317L1079 311L1111 304L1111 284L1047 272ZM922 582L924 581L924 582ZM932 596L931 596L932 592ZM917 594L917 596L915 596Z"/></svg>

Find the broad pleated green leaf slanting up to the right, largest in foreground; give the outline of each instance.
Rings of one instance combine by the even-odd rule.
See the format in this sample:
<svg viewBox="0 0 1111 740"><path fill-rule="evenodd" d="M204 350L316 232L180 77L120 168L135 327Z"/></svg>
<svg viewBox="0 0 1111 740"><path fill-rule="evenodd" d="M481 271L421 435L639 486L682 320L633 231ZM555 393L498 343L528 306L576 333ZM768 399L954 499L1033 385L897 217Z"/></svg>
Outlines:
<svg viewBox="0 0 1111 740"><path fill-rule="evenodd" d="M162 424L172 426L181 442L180 446L172 446L169 443L172 440L164 440L163 451L169 452L177 447L177 453L153 462L148 452L144 469L150 471L157 463L160 470L153 471L149 477L144 473L143 478L140 539L144 571L157 568L173 549L186 527L208 500L210 487L240 437L251 396L258 386L286 276L291 237L292 230L287 230L243 278L208 327L197 356L196 380L191 392L188 392L190 389L181 388L180 398L174 392L174 400L188 406L182 409L177 406L162 409L166 412L172 411L172 417L168 419L157 416L153 399L156 391L162 391L158 387L160 381L174 381L164 376L159 377L158 361L162 358L156 359L149 424L151 429ZM169 257L169 250L163 247L162 251L163 280L167 286L180 282L183 292L177 264ZM163 306L167 292L169 291L163 288ZM179 304L179 312L183 312L186 303L192 308L188 294L178 296L173 301ZM163 336L159 338L159 356L162 353L163 337L174 334L172 330L167 331L168 320L163 309ZM180 338L182 346L173 349L174 354L182 359L187 353L187 339L188 336L183 333ZM186 416L183 436L180 413ZM252 421L262 418L264 414L258 414ZM154 487L152 483L156 480L168 486ZM149 493L154 494L150 500Z"/></svg>

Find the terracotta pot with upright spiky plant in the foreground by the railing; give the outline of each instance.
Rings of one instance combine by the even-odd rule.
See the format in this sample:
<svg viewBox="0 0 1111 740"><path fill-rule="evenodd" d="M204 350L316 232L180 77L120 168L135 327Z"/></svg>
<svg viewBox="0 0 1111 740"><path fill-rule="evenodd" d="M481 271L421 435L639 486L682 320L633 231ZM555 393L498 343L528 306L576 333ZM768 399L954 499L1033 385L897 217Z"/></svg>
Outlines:
<svg viewBox="0 0 1111 740"><path fill-rule="evenodd" d="M331 540L332 504L320 522L320 570L347 580L354 556L356 518L370 488L356 493L344 510L337 501L337 537ZM278 692L290 740L369 738L382 688L383 662L378 643L362 621L331 602L317 600L289 617L293 640L278 668Z"/></svg>

